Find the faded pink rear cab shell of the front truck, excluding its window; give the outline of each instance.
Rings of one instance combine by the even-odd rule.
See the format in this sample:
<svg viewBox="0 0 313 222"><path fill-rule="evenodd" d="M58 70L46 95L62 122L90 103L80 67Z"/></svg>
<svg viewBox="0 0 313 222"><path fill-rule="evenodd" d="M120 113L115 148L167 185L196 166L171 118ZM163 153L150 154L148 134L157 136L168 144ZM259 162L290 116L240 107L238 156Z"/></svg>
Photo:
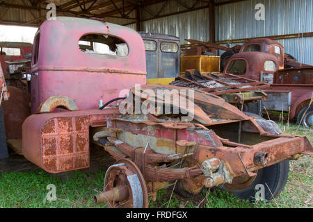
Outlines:
<svg viewBox="0 0 313 222"><path fill-rule="evenodd" d="M127 41L128 55L83 53L78 42L88 33L113 35ZM88 110L97 108L100 99L105 103L118 97L122 89L145 84L143 40L130 28L93 19L56 17L54 21L45 21L36 37L38 34L38 62L31 63L32 113L50 96L67 96L79 110ZM71 52L70 56L66 51Z"/></svg>

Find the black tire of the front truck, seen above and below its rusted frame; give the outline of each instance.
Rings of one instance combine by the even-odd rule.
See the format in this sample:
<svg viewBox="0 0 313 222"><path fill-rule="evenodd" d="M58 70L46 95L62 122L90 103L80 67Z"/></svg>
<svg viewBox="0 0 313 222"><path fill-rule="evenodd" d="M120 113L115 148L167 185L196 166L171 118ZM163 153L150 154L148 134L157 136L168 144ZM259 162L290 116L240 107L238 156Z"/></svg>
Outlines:
<svg viewBox="0 0 313 222"><path fill-rule="evenodd" d="M257 114L251 112L245 112L248 117L257 117L257 122L262 126L262 128L272 134L280 134L279 128L274 121L269 121L260 117ZM259 120L259 121L258 121ZM278 129L275 129L275 125ZM241 199L249 199L250 201L255 200L255 193L256 193L256 185L263 185L264 186L264 198L266 200L271 200L271 198L278 196L280 191L284 189L286 185L288 174L289 174L289 160L284 160L283 162L279 162L278 164L273 164L269 167L264 167L259 169L257 172L257 176L254 179L251 179L250 183L246 187L242 189L234 189L234 186L224 185L222 190L228 191L238 198ZM269 189L268 189L269 188Z"/></svg>

